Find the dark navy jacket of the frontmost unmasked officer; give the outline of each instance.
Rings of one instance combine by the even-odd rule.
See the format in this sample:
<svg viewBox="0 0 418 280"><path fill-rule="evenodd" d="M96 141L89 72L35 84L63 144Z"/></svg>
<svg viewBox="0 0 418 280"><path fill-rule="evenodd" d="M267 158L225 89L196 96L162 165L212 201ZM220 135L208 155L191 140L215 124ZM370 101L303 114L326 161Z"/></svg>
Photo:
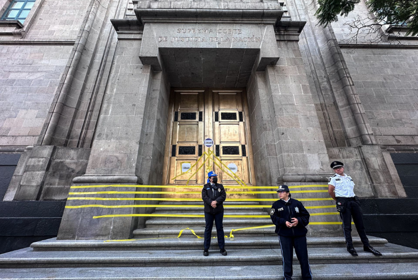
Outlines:
<svg viewBox="0 0 418 280"><path fill-rule="evenodd" d="M280 236L305 236L308 230L305 228L309 223L309 213L298 200L290 199L288 202L278 200L273 203L270 210L270 217L274 225L275 232ZM296 227L288 228L286 221L292 223L292 218L298 219Z"/></svg>

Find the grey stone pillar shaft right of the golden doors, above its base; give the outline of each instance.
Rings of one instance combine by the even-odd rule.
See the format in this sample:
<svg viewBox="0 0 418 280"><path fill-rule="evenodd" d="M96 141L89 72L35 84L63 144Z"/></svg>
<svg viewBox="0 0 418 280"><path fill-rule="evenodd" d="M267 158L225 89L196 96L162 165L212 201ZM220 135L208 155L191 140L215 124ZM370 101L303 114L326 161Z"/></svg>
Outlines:
<svg viewBox="0 0 418 280"><path fill-rule="evenodd" d="M283 183L283 176L326 181L329 159L298 43L278 44L277 65L253 72L247 87L257 184Z"/></svg>

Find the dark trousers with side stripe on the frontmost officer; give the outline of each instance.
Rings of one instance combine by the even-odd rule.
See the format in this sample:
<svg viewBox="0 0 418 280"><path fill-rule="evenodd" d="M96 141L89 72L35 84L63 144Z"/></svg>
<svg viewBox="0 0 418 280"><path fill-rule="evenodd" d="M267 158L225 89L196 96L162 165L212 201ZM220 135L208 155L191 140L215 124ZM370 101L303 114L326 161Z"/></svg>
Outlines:
<svg viewBox="0 0 418 280"><path fill-rule="evenodd" d="M308 249L306 236L286 237L279 236L281 256L283 258L283 280L291 280L293 275L293 247L295 247L296 257L300 263L303 280L311 280L308 261Z"/></svg>

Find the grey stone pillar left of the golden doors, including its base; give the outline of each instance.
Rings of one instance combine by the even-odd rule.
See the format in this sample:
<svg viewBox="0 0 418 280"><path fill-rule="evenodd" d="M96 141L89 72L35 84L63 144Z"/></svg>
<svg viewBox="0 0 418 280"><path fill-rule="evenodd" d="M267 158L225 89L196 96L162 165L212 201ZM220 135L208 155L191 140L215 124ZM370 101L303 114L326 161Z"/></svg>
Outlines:
<svg viewBox="0 0 418 280"><path fill-rule="evenodd" d="M150 65L141 63L138 57L141 43L146 44L143 40L133 39L132 35L127 38L124 35L119 37L86 174L74 178L73 185L161 184L161 162L164 159L170 85L163 72L154 72ZM72 194L106 190L110 189L99 187L71 189L67 206L96 204L71 200L74 197L100 197L105 200L100 200L97 204L123 205L123 207L75 209L67 207L58 234L59 239L127 239L133 229L141 226L145 219L132 216L93 217L152 211L151 208L129 207L145 203L135 198L152 195ZM117 191L136 190L148 189L129 186L117 188ZM107 198L126 200L106 200Z"/></svg>

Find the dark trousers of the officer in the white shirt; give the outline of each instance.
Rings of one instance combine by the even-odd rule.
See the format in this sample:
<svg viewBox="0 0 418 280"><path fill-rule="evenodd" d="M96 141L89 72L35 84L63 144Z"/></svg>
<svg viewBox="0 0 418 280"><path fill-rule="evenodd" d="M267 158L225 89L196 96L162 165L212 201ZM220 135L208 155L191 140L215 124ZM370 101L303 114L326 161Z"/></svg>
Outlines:
<svg viewBox="0 0 418 280"><path fill-rule="evenodd" d="M364 246L369 246L369 239L364 230L363 211L361 211L360 202L354 198L336 198L345 202L345 210L343 213L339 212L339 216L343 220L344 237L346 238L347 246L353 245L351 238L351 217L353 217L354 225L356 226L358 235Z"/></svg>

